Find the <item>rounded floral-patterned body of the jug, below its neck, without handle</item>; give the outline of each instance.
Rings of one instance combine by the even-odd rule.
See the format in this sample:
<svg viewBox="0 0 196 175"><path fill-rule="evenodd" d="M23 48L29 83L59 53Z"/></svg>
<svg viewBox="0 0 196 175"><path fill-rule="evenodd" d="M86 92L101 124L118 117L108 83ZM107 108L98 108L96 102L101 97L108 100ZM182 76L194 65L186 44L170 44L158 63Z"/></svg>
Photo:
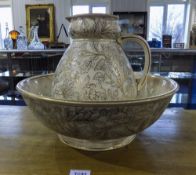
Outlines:
<svg viewBox="0 0 196 175"><path fill-rule="evenodd" d="M136 82L115 40L74 40L55 72L57 99L113 101L134 99Z"/></svg>

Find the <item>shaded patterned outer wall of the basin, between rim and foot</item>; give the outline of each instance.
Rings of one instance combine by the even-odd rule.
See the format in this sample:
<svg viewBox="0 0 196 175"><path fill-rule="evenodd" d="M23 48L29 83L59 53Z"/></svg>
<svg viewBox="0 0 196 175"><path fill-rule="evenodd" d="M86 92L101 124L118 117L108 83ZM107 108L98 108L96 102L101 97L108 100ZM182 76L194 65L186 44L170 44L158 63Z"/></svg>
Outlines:
<svg viewBox="0 0 196 175"><path fill-rule="evenodd" d="M171 97L125 106L79 107L25 98L36 117L55 132L78 139L107 140L136 134L162 114Z"/></svg>

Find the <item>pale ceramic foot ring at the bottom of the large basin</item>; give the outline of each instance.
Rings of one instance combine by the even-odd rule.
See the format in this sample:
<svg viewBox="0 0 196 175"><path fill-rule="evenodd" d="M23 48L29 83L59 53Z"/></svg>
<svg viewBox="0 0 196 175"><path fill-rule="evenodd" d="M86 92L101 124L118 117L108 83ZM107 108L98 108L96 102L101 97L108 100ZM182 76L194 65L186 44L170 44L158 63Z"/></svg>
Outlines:
<svg viewBox="0 0 196 175"><path fill-rule="evenodd" d="M104 141L76 139L61 134L58 134L58 137L64 144L71 146L73 148L87 151L106 151L121 148L125 145L128 145L135 139L136 135Z"/></svg>

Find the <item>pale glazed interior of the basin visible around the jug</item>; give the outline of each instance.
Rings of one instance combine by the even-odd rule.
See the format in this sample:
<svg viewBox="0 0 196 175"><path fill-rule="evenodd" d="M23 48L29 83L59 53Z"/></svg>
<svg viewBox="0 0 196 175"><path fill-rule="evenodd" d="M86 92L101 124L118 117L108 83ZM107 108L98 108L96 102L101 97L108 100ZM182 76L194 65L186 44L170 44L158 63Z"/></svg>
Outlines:
<svg viewBox="0 0 196 175"><path fill-rule="evenodd" d="M21 81L20 83L18 83L17 89L23 95L28 95L34 98L71 102L66 99L60 100L60 99L54 99L52 97L51 95L52 80L53 80L53 74L40 75L40 76L27 78ZM175 81L171 79L163 78L161 76L149 75L147 78L146 88L142 89L139 92L136 99L128 100L128 102L130 101L140 102L144 100L157 99L157 98L174 94L177 90L178 90L178 84ZM83 101L81 101L81 103L83 103ZM90 101L90 103L102 103L102 102ZM104 101L103 103L110 103L110 102Z"/></svg>

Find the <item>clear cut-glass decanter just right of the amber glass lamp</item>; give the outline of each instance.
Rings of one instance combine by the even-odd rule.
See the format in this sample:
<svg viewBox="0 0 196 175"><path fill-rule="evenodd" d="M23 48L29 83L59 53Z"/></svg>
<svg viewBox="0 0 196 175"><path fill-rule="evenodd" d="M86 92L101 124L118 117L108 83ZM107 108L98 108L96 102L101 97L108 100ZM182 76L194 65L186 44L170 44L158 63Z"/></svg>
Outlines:
<svg viewBox="0 0 196 175"><path fill-rule="evenodd" d="M24 28L22 26L19 27L19 36L16 41L18 50L27 50L27 37L24 34Z"/></svg>

